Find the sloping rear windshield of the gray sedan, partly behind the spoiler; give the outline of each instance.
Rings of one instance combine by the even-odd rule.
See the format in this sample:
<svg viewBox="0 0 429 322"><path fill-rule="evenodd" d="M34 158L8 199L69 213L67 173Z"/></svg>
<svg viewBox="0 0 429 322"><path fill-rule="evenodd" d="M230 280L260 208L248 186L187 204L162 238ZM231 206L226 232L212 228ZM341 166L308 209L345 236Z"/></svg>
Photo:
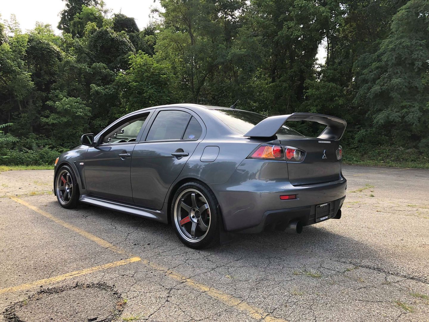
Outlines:
<svg viewBox="0 0 429 322"><path fill-rule="evenodd" d="M233 131L239 134L246 134L264 118L267 118L265 115L237 109L211 109L210 111ZM277 132L277 136L282 135L303 136L286 125L282 125Z"/></svg>

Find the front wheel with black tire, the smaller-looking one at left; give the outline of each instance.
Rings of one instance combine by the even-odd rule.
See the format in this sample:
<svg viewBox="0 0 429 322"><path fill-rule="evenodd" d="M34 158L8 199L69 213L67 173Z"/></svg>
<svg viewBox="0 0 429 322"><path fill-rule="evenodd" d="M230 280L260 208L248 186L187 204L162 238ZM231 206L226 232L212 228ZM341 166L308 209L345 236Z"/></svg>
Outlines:
<svg viewBox="0 0 429 322"><path fill-rule="evenodd" d="M64 173L68 173L69 176L64 176ZM67 178L66 182L61 181L60 176L63 178ZM55 175L55 192L57 195L58 204L61 207L66 209L73 209L79 206L79 187L77 184L77 179L74 171L68 165L63 165L58 169L57 174ZM60 190L62 188L66 188L67 184L72 184L72 188L68 191ZM63 192L64 191L64 192ZM71 194L67 194L67 197L64 197L65 192L71 192Z"/></svg>

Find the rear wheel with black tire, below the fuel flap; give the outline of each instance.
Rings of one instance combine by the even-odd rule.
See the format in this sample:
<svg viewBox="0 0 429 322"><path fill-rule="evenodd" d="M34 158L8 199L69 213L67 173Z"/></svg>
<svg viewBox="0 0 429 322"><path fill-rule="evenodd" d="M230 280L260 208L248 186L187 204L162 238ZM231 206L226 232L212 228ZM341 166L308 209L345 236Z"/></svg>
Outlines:
<svg viewBox="0 0 429 322"><path fill-rule="evenodd" d="M195 200L196 199L195 196L197 196L197 199L198 199L197 204L199 204L200 206L196 207L194 206L193 202L187 201L187 204L191 204L191 206L189 207L190 210L188 211L180 207L179 205L183 204L184 200L187 200L186 198L190 197L190 200L192 200L193 191L195 191L193 200ZM190 193L189 196L187 195L188 193ZM183 202L178 200L179 198ZM202 211L201 214L199 214L198 211L203 207L206 207L205 206L206 204L208 205L208 208L205 211ZM177 211L177 214L176 214L176 209L179 209ZM221 211L219 209L218 200L216 199L215 194L213 194L213 191L211 191L207 185L205 185L202 182L187 182L184 185L181 185L174 194L170 210L171 210L170 211L171 223L172 223L173 229L177 237L180 239L180 241L184 243L186 246L193 249L203 249L203 248L209 248L209 247L219 245ZM196 211L193 212L193 210L196 210ZM197 222L197 223L193 222L191 220L197 220L197 221L199 220L196 219L196 217L192 217L193 219L189 219L188 222L181 225L181 222L187 219L187 216L186 216L187 213L189 213L190 218L192 217L192 214L193 214L194 216L197 216L199 220L202 220L202 222ZM179 221L179 219L181 220ZM203 236L192 237L191 235L192 228L189 228L189 224L191 226L196 225L196 228L198 228L199 230L198 232L196 232L196 228L194 228L193 229L194 235L201 234ZM205 233L204 233L204 230L200 228L201 225L203 225L204 228L208 226ZM188 226L188 228L191 230L190 233L187 231L186 226ZM192 240L193 238L198 238L198 239Z"/></svg>

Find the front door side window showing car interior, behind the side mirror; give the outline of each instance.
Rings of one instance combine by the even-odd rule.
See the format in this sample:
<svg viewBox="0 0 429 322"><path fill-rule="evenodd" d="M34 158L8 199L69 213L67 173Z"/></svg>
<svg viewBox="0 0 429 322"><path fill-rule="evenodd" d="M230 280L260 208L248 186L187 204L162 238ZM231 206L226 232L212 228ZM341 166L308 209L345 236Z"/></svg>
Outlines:
<svg viewBox="0 0 429 322"><path fill-rule="evenodd" d="M149 113L139 115L138 118L130 119L116 126L103 136L103 143L134 142L145 124Z"/></svg>

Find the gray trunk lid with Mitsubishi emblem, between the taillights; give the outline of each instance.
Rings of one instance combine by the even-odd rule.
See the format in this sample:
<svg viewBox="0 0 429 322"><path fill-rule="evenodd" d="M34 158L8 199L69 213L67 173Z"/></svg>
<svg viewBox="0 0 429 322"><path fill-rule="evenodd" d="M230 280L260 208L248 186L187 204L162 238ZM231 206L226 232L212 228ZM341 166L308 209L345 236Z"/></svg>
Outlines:
<svg viewBox="0 0 429 322"><path fill-rule="evenodd" d="M338 160L336 155L338 141L304 137L280 140L280 143L305 151L303 161L287 163L289 182L292 185L308 185L340 179L341 159Z"/></svg>

